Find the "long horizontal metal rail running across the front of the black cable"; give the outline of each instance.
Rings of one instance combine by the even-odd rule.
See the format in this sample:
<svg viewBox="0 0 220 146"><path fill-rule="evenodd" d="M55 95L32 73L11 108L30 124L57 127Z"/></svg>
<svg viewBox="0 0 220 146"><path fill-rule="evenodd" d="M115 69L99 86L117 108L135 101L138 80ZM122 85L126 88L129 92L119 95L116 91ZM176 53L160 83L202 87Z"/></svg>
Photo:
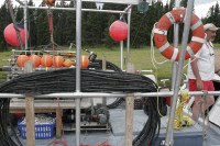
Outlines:
<svg viewBox="0 0 220 146"><path fill-rule="evenodd" d="M66 92L66 93L50 93L50 94L40 94L34 96L34 98L125 98L128 96L133 97L172 97L174 94L170 92L134 92L134 93L100 93L100 92ZM180 94L180 93L179 93ZM189 92L189 96L220 96L220 91L194 91ZM24 98L24 94L15 94L15 93L0 93L0 98Z"/></svg>

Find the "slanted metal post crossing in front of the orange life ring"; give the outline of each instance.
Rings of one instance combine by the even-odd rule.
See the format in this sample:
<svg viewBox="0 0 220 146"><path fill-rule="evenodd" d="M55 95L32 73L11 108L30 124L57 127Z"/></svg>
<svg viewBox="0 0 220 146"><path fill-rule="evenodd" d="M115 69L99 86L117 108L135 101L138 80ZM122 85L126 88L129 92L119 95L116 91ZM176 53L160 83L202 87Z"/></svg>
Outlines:
<svg viewBox="0 0 220 146"><path fill-rule="evenodd" d="M183 41L182 41L182 53L180 53L180 57L178 61L177 77L176 77L176 83L174 87L174 98L173 98L173 103L170 108L170 115L169 115L168 127L167 127L167 133L166 133L165 146L170 146L170 145L173 146L174 144L173 143L174 115L175 115L175 110L176 110L176 104L177 104L177 99L178 99L178 91L179 91L184 58L185 58L186 47L187 47L187 42L188 42L193 8L194 8L194 0L189 0L187 2L186 20L184 24L184 33L183 33Z"/></svg>

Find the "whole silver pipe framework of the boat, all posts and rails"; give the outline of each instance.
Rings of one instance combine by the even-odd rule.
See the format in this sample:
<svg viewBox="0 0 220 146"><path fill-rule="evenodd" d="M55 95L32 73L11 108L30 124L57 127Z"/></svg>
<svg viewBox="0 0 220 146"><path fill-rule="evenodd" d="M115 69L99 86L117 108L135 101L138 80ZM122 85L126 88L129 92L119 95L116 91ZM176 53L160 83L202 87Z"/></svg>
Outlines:
<svg viewBox="0 0 220 146"><path fill-rule="evenodd" d="M139 4L140 0L76 0L76 9L62 9L62 8L43 8L43 7L28 7L26 0L24 3L22 3L20 0L16 0L20 4L23 5L24 10L24 16L26 16L26 10L28 9L52 9L52 10L74 10L76 11L76 48L77 48L77 65L76 65L76 92L73 93L51 93L51 94L42 94L42 96L35 96L35 98L75 98L76 99L76 146L79 146L80 142L80 99L81 98L94 98L94 97L127 97L127 93L96 93L96 92L80 92L80 48L81 48L81 11L90 11L90 12L109 12L109 13L127 13L128 14L128 24L129 24L129 32L128 32L128 42L127 42L127 64L129 63L129 49L130 49L130 21L131 21L131 8L128 9L129 11L111 11L111 10L92 10L92 9L81 9L81 2L111 2L111 3L118 3L118 4ZM73 1L73 0L72 0ZM152 0L146 0L146 2L151 3ZM194 0L188 1L187 3L187 12L186 12L186 21L185 21L185 27L184 27L184 34L183 34L183 42L182 42L182 55L179 58L179 66L177 68L177 76L175 79L173 79L173 88L174 92L151 92L151 93L133 93L134 97L167 97L173 96L173 103L172 103L172 110L169 115L169 123L168 123L168 130L166 134L166 141L165 145L169 146L173 145L173 119L175 113L175 108L177 104L177 97L179 94L179 86L180 86L180 75L183 70L183 63L184 63L184 56L186 52L187 46L187 40L188 40L188 33L190 27L190 18L193 12L193 5ZM176 7L179 7L178 0L176 0ZM26 18L24 18L26 20ZM178 26L177 26L178 27ZM26 27L25 27L26 29ZM177 31L178 29L176 29ZM26 32L26 31L25 31ZM175 34L176 35L176 34ZM26 36L26 35L25 35ZM175 43L176 45L176 43ZM25 45L25 48L28 46ZM174 82L175 80L175 82ZM210 96L219 96L220 91L209 91L208 93L204 93L202 91L197 92L189 92L190 96L202 96L202 94L210 94ZM0 98L24 98L23 94L12 94L12 93L0 93Z"/></svg>

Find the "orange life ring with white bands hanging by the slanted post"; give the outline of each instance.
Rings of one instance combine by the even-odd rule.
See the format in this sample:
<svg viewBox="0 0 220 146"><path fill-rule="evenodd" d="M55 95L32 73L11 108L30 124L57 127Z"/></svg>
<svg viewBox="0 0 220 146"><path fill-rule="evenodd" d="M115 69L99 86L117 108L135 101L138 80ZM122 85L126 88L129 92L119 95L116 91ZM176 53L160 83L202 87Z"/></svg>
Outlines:
<svg viewBox="0 0 220 146"><path fill-rule="evenodd" d="M186 9L175 9L166 14L164 14L160 21L156 23L154 32L154 42L161 54L167 59L178 60L180 56L180 50L169 45L167 41L167 31L174 23L184 22L186 14ZM193 13L190 27L193 32L191 42L186 48L185 59L195 55L202 46L205 41L205 30L204 24L200 19Z"/></svg>

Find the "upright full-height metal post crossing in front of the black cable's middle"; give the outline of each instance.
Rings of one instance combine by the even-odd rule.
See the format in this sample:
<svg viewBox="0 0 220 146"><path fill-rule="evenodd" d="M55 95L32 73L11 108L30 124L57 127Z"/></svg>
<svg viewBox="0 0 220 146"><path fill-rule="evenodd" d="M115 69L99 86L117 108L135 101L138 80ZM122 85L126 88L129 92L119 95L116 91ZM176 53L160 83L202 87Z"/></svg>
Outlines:
<svg viewBox="0 0 220 146"><path fill-rule="evenodd" d="M81 0L76 1L76 92L80 92L81 71ZM80 145L80 98L76 103L76 146Z"/></svg>

